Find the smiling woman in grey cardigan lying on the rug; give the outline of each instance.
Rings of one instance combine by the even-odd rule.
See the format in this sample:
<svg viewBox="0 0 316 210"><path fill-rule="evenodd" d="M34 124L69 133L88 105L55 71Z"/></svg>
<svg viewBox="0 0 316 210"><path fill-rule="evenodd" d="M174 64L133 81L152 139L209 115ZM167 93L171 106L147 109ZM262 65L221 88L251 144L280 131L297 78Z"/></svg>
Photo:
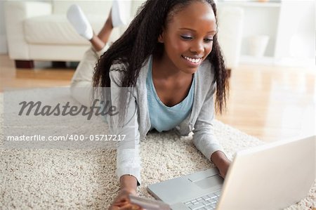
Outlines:
<svg viewBox="0 0 316 210"><path fill-rule="evenodd" d="M76 11L79 15L74 15L85 20L80 9ZM121 190L110 209L119 209L128 203L129 193L136 194L141 183L139 143L152 130L176 129L181 136L193 131L197 149L225 177L230 161L213 135L215 108L225 110L228 91L216 4L212 0L148 0L121 38L108 46L112 18L113 14L89 40L93 48L86 52L71 86L72 93L78 93L74 98L86 104L82 99L88 97L76 88L91 87L93 81L93 96L100 95L119 109L119 116L109 121L111 133L124 134L124 143L135 145L134 149L122 149L124 143L117 147ZM100 91L100 87L110 91Z"/></svg>

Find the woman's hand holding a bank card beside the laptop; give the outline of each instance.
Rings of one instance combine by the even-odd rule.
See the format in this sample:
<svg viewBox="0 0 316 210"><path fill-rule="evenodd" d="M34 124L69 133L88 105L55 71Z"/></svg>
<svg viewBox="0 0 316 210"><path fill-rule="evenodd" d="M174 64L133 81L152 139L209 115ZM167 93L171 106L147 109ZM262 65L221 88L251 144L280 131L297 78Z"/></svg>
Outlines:
<svg viewBox="0 0 316 210"><path fill-rule="evenodd" d="M136 204L131 204L129 195L137 195L136 190L123 188L119 190L119 194L114 199L109 210L143 210Z"/></svg>

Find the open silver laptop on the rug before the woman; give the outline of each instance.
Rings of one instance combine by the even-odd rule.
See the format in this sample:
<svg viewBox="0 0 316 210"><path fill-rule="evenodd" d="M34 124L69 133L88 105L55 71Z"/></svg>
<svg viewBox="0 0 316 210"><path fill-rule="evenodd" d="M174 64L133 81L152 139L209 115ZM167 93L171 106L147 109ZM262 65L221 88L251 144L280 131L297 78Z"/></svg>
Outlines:
<svg viewBox="0 0 316 210"><path fill-rule="evenodd" d="M315 136L237 152L223 181L217 169L147 187L171 209L282 209L308 195L315 181Z"/></svg>

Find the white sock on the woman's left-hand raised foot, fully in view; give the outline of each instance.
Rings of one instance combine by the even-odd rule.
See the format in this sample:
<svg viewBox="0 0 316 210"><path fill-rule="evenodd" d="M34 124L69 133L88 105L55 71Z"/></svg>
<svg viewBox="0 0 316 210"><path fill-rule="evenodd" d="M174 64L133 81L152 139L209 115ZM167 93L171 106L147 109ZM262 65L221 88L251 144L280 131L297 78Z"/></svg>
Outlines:
<svg viewBox="0 0 316 210"><path fill-rule="evenodd" d="M88 22L88 19L86 19L86 15L84 15L84 12L81 11L79 6L76 4L70 6L67 11L67 18L74 29L76 29L78 34L81 35L81 37L84 37L88 40L92 39L93 29L90 25L90 22Z"/></svg>

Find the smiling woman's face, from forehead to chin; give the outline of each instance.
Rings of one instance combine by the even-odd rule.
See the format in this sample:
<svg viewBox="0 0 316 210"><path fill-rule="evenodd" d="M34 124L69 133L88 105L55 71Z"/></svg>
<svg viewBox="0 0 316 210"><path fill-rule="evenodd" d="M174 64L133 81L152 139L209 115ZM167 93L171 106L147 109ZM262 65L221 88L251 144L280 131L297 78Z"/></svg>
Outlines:
<svg viewBox="0 0 316 210"><path fill-rule="evenodd" d="M173 15L159 41L164 43L164 58L178 70L193 74L211 53L215 34L213 9L208 3L195 1Z"/></svg>

